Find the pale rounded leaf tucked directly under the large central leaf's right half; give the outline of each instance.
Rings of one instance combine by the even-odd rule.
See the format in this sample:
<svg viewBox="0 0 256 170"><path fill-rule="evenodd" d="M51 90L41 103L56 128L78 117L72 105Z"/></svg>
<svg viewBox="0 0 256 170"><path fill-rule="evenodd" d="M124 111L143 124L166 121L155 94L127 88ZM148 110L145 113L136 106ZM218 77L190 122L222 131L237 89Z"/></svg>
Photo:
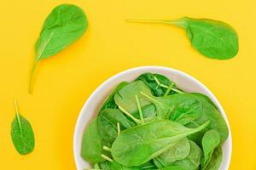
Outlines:
<svg viewBox="0 0 256 170"><path fill-rule="evenodd" d="M174 144L169 150L163 152L158 158L165 161L165 164L171 164L173 161L183 160L189 156L190 144L187 138L183 138Z"/></svg>

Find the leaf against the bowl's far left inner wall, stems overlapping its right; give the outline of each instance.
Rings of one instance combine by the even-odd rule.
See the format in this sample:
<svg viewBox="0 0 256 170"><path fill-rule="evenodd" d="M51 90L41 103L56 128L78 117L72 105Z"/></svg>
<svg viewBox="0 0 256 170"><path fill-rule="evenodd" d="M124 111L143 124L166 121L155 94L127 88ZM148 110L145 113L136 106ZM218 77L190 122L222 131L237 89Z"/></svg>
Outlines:
<svg viewBox="0 0 256 170"><path fill-rule="evenodd" d="M108 152L102 149L104 145L107 144L102 139L101 133L98 131L97 118L95 118L89 123L84 131L81 156L85 161L89 161L90 163L105 161L105 159L102 158L102 154L108 155Z"/></svg>

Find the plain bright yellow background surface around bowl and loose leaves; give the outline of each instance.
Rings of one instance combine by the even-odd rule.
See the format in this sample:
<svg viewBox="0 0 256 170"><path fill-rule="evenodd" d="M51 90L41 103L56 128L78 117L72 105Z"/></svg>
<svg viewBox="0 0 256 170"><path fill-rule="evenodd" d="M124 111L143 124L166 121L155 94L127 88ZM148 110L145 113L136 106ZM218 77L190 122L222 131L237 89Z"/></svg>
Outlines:
<svg viewBox="0 0 256 170"><path fill-rule="evenodd" d="M34 94L27 92L33 46L52 8L75 3L89 28L72 46L38 66ZM256 3L254 0L7 0L0 4L0 169L72 170L73 130L89 95L119 71L165 65L207 85L224 106L233 137L231 170L256 169ZM207 59L172 26L125 23L125 19L177 19L183 15L223 20L236 28L234 59ZM11 141L20 112L32 123L36 147L20 156Z"/></svg>

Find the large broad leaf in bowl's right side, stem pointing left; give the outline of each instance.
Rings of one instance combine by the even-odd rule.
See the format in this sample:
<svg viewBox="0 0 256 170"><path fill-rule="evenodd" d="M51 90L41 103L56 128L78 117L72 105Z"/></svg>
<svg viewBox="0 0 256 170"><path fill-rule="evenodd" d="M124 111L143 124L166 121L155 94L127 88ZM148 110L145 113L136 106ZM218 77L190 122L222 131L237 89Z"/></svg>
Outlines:
<svg viewBox="0 0 256 170"><path fill-rule="evenodd" d="M201 144L201 139L206 130L216 129L221 137L221 144L228 138L229 129L219 111L205 98L195 94L173 94L166 97L154 97L143 94L154 103L157 115L171 118L186 125L186 127L199 127L204 122L211 120L211 124L203 131L194 133L189 139Z"/></svg>

